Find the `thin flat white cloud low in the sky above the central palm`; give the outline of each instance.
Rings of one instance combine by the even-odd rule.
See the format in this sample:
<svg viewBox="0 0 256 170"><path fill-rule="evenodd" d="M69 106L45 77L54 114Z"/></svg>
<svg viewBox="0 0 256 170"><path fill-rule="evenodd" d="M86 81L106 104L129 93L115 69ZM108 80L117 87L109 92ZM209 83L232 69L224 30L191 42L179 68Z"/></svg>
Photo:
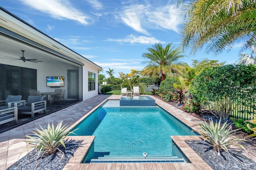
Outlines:
<svg viewBox="0 0 256 170"><path fill-rule="evenodd" d="M128 35L124 39L108 39L108 41L114 41L119 43L140 43L140 44L165 43L164 41L160 41L155 37L134 36L134 35Z"/></svg>

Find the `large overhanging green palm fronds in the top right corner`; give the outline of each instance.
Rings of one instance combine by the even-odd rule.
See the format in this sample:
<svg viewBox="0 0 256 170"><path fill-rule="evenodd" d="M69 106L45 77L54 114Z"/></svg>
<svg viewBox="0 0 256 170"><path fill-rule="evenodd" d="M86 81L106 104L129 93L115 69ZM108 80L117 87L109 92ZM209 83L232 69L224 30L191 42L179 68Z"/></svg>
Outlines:
<svg viewBox="0 0 256 170"><path fill-rule="evenodd" d="M217 55L240 42L244 51L256 41L254 0L178 0L178 7L185 17L182 47L192 47L191 55L204 45Z"/></svg>

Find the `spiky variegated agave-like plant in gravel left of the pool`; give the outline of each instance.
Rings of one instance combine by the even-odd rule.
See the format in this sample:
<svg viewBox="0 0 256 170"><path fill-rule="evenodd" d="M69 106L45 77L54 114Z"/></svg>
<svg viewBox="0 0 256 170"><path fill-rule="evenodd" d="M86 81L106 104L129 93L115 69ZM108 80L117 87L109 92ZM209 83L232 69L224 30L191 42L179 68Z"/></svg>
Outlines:
<svg viewBox="0 0 256 170"><path fill-rule="evenodd" d="M54 127L53 123L52 123L52 126L50 126L50 123L48 123L47 129L44 129L41 126L40 128L42 130L37 128L34 129L35 131L32 131L33 134L25 135L25 137L32 139L32 141L25 141L25 142L33 145L28 147L25 150L28 150L30 148L38 148L38 156L43 150L44 150L44 154L45 153L54 154L57 150L62 152L60 149L58 149L58 147L60 145L63 145L63 147L66 148L64 144L64 138L70 135L71 133L74 134L74 131L77 130L75 129L74 131L69 132L68 131L69 127L70 126L66 126L66 124L62 126L62 121L60 121L60 123L58 123L56 128Z"/></svg>

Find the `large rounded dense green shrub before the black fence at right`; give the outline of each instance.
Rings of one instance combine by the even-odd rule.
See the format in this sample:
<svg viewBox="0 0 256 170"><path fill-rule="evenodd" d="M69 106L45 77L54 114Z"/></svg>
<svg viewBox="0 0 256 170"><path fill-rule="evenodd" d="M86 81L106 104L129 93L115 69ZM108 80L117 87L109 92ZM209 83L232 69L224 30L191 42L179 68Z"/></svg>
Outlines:
<svg viewBox="0 0 256 170"><path fill-rule="evenodd" d="M256 66L225 65L201 72L193 79L190 92L197 103L206 102L215 117L226 121L239 103L248 104L244 101L250 101L256 93L255 83ZM233 102L236 106L231 107Z"/></svg>

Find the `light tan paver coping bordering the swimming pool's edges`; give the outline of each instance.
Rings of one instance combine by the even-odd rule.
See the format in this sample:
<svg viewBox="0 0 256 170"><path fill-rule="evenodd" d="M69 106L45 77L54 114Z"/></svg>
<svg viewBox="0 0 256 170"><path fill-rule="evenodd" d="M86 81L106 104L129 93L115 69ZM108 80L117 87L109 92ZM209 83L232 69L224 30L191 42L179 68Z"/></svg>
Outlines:
<svg viewBox="0 0 256 170"><path fill-rule="evenodd" d="M186 115L186 119L182 119L182 117L177 117L177 115L180 115L178 112L183 112L180 109L170 106L169 104L166 105L165 102L155 98L154 96L150 96L154 100L156 100L156 104L160 107L162 107L164 110L166 110L168 113L176 117L178 120L186 124L190 127L192 125L193 130L196 131L196 129L199 129L198 121L200 119L192 116L192 115ZM120 96L110 96L103 102L101 102L98 106L94 107L90 112L88 112L86 115L84 115L82 118L80 118L76 123L74 123L72 126L70 126L70 129L74 128L76 125L78 125L84 118L88 117L94 110L96 110L100 105L102 105L107 100L119 100ZM177 110L178 109L178 110ZM174 113L174 114L173 114ZM196 121L196 122L194 122ZM191 149L188 144L186 144L186 140L202 140L202 136L170 136L174 143L180 148L180 150L183 152L183 154L188 158L188 160L191 163L91 163L91 164L84 164L81 163L84 156L86 155L88 149L92 145L95 136L70 136L69 139L74 140L84 140L82 143L82 146L76 150L74 153L74 156L70 158L69 162L66 164L66 166L63 168L63 170L80 170L80 169L188 169L188 170L211 170L212 168L198 155L196 152Z"/></svg>

